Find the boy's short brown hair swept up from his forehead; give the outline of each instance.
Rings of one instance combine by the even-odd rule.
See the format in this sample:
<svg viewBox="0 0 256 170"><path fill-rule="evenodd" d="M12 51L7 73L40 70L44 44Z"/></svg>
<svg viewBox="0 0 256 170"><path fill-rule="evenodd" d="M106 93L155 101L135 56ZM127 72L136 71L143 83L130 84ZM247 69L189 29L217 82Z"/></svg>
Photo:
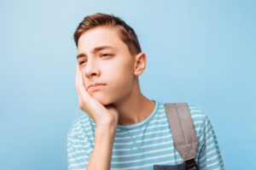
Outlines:
<svg viewBox="0 0 256 170"><path fill-rule="evenodd" d="M125 42L131 54L138 54L142 51L137 40L137 35L131 26L128 26L124 20L121 20L113 14L102 13L88 15L79 23L79 26L73 34L76 46L78 47L79 37L81 37L85 31L97 26L113 26L117 28L120 39Z"/></svg>

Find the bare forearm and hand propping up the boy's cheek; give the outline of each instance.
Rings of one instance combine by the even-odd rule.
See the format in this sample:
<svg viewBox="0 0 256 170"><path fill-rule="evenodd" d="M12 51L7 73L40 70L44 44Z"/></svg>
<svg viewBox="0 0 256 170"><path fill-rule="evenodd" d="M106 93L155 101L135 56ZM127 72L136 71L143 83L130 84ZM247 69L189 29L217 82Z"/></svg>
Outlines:
<svg viewBox="0 0 256 170"><path fill-rule="evenodd" d="M107 170L110 168L113 139L115 136L115 131L118 122L118 111L113 107L113 105L102 105L98 100L94 99L87 91L85 87L85 82L88 80L84 77L82 71L80 71L79 65L77 65L76 74L76 89L79 95L79 108L84 111L94 122L96 122L96 132L95 132L95 144L90 144L90 150L92 154L88 154L90 150L86 149L88 144L79 144L80 148L87 153L87 157L90 160L86 161L85 166L89 170ZM89 141L87 141L88 143ZM83 164L84 162L81 162Z"/></svg>

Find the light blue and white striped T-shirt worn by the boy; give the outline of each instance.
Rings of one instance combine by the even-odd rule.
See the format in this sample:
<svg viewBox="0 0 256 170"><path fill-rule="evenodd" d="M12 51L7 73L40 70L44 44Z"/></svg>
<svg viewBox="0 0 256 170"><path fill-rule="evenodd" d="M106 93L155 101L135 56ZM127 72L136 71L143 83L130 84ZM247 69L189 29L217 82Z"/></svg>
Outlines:
<svg viewBox="0 0 256 170"><path fill-rule="evenodd" d="M153 100L154 101L154 100ZM111 169L153 170L154 165L177 165L183 158L173 146L164 103L154 101L154 111L143 122L118 124L113 142ZM205 111L189 105L198 148L199 169L224 169L216 134ZM86 169L95 141L96 123L84 114L67 134L68 169Z"/></svg>

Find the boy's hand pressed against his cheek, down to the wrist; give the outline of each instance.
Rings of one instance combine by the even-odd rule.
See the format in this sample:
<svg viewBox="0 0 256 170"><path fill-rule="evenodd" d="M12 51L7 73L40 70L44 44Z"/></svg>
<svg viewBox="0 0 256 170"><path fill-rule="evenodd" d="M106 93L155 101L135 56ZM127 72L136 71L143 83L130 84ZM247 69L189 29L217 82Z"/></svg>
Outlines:
<svg viewBox="0 0 256 170"><path fill-rule="evenodd" d="M104 106L94 99L84 85L84 75L80 71L79 64L76 67L76 91L79 95L79 108L85 111L98 124L117 125L119 113L112 106Z"/></svg>

